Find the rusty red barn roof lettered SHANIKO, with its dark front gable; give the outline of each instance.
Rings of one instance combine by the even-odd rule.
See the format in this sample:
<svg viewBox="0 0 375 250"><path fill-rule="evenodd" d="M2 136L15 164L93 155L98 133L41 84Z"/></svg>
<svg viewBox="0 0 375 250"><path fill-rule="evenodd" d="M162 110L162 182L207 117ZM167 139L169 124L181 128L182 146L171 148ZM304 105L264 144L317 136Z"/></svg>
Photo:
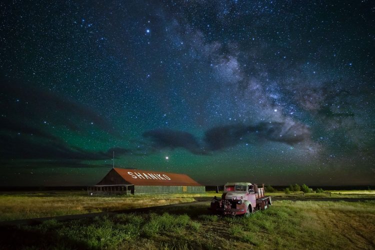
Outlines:
<svg viewBox="0 0 375 250"><path fill-rule="evenodd" d="M97 185L134 184L155 186L200 186L186 174L112 168Z"/></svg>

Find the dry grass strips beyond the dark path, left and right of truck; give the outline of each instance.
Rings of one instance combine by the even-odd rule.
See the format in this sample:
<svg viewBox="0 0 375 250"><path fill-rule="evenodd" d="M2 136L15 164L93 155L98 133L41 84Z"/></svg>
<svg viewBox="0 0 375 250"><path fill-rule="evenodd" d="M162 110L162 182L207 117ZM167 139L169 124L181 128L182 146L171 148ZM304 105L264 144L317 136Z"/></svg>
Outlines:
<svg viewBox="0 0 375 250"><path fill-rule="evenodd" d="M220 193L174 193L159 195L88 196L85 191L0 192L0 221L51 217L101 211L118 211L154 205L194 201L193 197ZM267 193L275 198L375 198L375 190L328 190L325 193Z"/></svg>

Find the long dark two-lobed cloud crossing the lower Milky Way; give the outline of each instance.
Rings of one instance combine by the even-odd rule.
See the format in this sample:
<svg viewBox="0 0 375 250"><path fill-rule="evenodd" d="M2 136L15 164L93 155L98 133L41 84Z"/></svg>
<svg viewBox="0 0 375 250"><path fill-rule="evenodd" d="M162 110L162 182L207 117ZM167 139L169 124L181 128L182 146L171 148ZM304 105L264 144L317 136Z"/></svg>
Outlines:
<svg viewBox="0 0 375 250"><path fill-rule="evenodd" d="M194 154L207 154L240 143L255 143L254 139L295 145L309 142L311 135L304 124L286 120L284 122L261 122L256 125L215 126L205 131L201 143L191 133L171 129L151 130L144 132L143 136L151 140L153 149L179 147Z"/></svg>

